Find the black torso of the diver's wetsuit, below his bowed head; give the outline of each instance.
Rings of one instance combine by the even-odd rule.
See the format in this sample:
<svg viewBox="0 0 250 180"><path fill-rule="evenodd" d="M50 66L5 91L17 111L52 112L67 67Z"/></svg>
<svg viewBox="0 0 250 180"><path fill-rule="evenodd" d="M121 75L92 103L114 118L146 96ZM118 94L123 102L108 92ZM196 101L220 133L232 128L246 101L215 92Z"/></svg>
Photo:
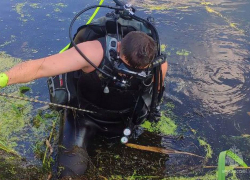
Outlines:
<svg viewBox="0 0 250 180"><path fill-rule="evenodd" d="M99 38L104 50L104 57L100 63L100 69L112 71L110 61L105 57L106 40ZM149 80L151 81L151 79ZM121 121L127 119L127 116L134 109L138 97L142 93L142 81L136 77L131 77L130 85L126 88L119 87L116 82L105 77L99 71L94 70L91 73L83 74L78 80L77 92L80 107L83 109L97 111L97 114L91 116L104 121ZM108 88L108 93L105 93Z"/></svg>

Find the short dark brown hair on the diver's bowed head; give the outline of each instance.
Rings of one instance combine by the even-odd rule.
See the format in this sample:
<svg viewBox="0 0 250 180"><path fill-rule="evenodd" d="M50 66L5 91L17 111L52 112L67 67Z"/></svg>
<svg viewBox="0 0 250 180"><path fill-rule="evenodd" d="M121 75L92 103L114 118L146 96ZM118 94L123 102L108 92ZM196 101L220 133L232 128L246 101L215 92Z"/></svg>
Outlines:
<svg viewBox="0 0 250 180"><path fill-rule="evenodd" d="M133 68L144 68L149 65L157 52L153 38L141 31L129 32L121 41L120 54L125 56Z"/></svg>

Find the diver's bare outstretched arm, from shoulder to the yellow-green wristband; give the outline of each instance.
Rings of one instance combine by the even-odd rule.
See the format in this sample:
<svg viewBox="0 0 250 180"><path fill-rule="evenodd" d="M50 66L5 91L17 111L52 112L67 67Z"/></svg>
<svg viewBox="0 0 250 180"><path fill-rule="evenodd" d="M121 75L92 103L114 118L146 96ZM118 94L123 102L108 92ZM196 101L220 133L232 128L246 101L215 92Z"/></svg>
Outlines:
<svg viewBox="0 0 250 180"><path fill-rule="evenodd" d="M98 41L88 41L77 46L95 65L98 66L100 64L103 51ZM5 74L9 78L8 85L10 85L26 83L38 78L55 76L79 69L90 72L93 70L93 67L75 48L71 48L60 54L22 62L5 72Z"/></svg>

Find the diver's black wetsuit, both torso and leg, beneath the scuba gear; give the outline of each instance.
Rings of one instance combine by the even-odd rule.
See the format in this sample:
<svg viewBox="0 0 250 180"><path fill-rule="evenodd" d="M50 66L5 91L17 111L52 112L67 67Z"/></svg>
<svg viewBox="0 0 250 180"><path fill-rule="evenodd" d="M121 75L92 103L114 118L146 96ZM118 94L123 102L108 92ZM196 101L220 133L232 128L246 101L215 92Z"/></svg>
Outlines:
<svg viewBox="0 0 250 180"><path fill-rule="evenodd" d="M105 54L106 40L98 40ZM99 68L112 71L105 55ZM150 83L152 79L148 81ZM58 154L59 167L64 167L61 168L61 177L83 175L88 164L86 148L89 140L97 132L122 135L127 118L135 109L136 103L140 112L135 112L134 117L146 114L141 111L145 104L141 93L144 92L145 95L146 92L141 88L141 83L141 80L133 77L130 86L122 89L97 70L80 76L77 82L79 106L97 113L79 113L77 117L73 117L72 113L65 113L66 118L61 122L60 129L60 144L63 148L59 149ZM104 92L105 87L108 88L108 93Z"/></svg>

